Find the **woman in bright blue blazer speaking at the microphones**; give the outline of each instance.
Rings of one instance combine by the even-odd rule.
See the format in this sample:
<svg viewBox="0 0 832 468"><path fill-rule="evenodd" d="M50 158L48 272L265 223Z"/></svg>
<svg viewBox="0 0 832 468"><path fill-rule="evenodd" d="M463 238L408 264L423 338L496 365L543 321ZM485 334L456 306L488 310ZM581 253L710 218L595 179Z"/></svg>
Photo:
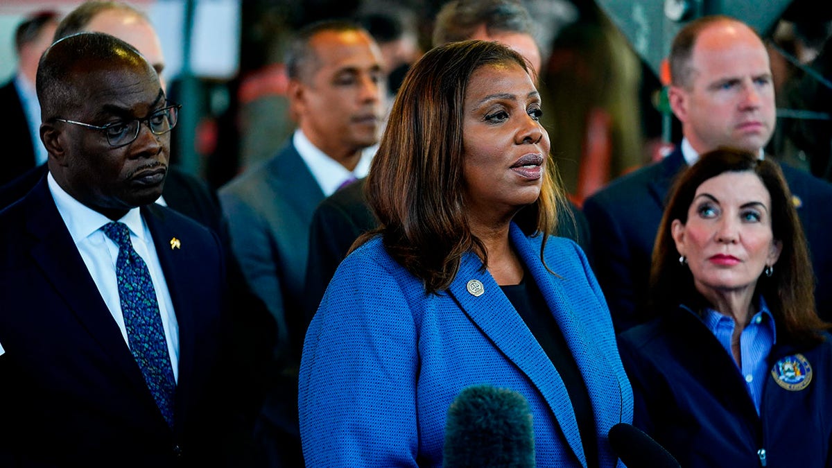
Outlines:
<svg viewBox="0 0 832 468"><path fill-rule="evenodd" d="M622 466L632 393L561 199L526 62L494 42L428 52L367 181L382 227L339 266L306 335L307 466L440 466L467 386L529 402L538 466Z"/></svg>

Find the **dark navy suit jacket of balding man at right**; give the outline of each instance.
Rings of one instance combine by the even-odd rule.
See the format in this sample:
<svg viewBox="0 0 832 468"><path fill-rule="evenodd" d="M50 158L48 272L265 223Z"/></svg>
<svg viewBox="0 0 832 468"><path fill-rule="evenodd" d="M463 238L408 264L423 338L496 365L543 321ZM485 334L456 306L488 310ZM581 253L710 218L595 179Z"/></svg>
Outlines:
<svg viewBox="0 0 832 468"><path fill-rule="evenodd" d="M646 299L656 231L676 174L687 167L676 149L661 162L612 182L583 205L592 232L595 274L607 296L617 331L647 321ZM781 166L809 242L818 313L832 320L832 185Z"/></svg>

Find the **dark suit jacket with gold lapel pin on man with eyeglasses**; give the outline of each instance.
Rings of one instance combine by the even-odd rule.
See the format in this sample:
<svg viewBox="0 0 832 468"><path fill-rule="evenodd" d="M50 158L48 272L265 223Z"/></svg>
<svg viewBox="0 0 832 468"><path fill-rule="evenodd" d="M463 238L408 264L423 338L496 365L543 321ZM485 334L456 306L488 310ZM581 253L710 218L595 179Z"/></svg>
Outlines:
<svg viewBox="0 0 832 468"><path fill-rule="evenodd" d="M165 207L141 214L179 324L173 431L42 181L0 212L0 460L173 466L215 456L226 414L215 396L226 328L220 240Z"/></svg>

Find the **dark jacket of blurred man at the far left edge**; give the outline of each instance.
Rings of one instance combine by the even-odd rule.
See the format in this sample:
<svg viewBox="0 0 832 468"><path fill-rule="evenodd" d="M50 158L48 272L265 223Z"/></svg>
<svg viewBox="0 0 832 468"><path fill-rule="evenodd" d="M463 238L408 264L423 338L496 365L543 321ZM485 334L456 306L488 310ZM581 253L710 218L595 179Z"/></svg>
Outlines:
<svg viewBox="0 0 832 468"><path fill-rule="evenodd" d="M14 78L0 87L0 109L4 123L0 125L0 185L35 167L35 150L26 120L26 112L14 87Z"/></svg>

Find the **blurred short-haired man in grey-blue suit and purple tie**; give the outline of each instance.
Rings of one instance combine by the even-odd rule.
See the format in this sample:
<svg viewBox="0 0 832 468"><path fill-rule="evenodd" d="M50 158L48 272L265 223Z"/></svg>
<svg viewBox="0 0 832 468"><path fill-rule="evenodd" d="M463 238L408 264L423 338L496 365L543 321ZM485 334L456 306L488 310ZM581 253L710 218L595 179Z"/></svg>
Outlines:
<svg viewBox="0 0 832 468"><path fill-rule="evenodd" d="M268 466L300 466L297 371L312 213L324 197L364 177L384 117L379 47L352 22L313 23L286 60L298 128L270 160L220 189L246 279L277 323L272 390L256 429Z"/></svg>

